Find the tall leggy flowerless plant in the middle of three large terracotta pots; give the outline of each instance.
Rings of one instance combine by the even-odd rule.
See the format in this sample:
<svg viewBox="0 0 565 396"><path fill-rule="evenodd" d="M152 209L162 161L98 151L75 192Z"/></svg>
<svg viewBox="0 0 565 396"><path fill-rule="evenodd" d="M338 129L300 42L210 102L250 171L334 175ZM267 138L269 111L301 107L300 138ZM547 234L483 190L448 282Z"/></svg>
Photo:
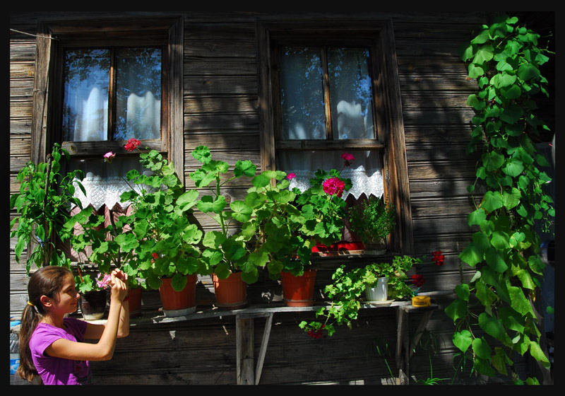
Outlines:
<svg viewBox="0 0 565 396"><path fill-rule="evenodd" d="M242 223L249 221L251 207L248 200L227 202L221 189L234 179L242 176L254 177L256 166L251 161L237 161L233 175L225 180L229 165L225 161L213 160L210 148L198 146L192 156L201 163L201 167L190 174L197 188L208 188L210 194L204 194L196 206L217 224L219 230L207 231L202 239L204 250L202 257L208 263L213 280L216 304L220 308L241 308L246 305L247 284L258 279L258 266L249 257L247 245L251 238L238 231Z"/></svg>

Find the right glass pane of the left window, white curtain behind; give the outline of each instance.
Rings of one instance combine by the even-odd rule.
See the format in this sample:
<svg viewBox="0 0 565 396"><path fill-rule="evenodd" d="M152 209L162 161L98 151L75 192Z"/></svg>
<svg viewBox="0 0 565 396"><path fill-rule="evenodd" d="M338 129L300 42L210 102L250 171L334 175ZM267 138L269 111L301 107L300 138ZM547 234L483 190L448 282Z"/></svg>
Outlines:
<svg viewBox="0 0 565 396"><path fill-rule="evenodd" d="M114 140L161 138L161 52L117 50Z"/></svg>

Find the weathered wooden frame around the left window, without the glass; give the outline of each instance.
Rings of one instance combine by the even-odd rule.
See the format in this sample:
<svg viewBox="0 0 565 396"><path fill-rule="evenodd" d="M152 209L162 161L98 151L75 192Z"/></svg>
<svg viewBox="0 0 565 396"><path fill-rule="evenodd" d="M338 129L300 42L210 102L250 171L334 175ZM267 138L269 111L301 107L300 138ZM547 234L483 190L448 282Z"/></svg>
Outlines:
<svg viewBox="0 0 565 396"><path fill-rule="evenodd" d="M107 21L40 21L32 117L32 155L45 161L56 142L71 156L92 156L107 151L126 154L125 141L61 141L63 53L70 47L162 47L161 139L143 140L172 161L184 185L184 134L182 101L182 18L151 18ZM102 152L103 151L103 152Z"/></svg>

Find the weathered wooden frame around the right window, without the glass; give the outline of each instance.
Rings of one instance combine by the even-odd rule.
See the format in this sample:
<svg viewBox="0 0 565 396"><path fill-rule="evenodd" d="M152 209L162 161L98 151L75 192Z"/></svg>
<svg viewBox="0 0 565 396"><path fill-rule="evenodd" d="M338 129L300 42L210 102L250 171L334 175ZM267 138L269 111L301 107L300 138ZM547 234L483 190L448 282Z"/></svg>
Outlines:
<svg viewBox="0 0 565 396"><path fill-rule="evenodd" d="M278 150L345 150L364 149L382 153L384 197L396 207L397 226L391 235L393 253L413 252L412 211L408 185L408 165L404 141L404 124L400 98L400 81L396 47L391 21L312 19L293 21L257 21L259 97L261 117L261 168L275 169ZM305 38L303 38L305 37ZM311 40L309 37L313 37ZM362 44L370 47L372 88L376 117L376 139L278 141L280 113L274 101L278 98L277 62L273 52L284 43L335 45Z"/></svg>

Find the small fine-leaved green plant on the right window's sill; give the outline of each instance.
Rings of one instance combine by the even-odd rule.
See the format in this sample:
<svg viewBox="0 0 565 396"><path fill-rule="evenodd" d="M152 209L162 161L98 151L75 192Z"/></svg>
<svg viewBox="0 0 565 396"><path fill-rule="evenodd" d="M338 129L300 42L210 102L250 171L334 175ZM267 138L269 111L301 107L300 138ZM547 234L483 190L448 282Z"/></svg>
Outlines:
<svg viewBox="0 0 565 396"><path fill-rule="evenodd" d="M351 231L359 235L365 246L365 252L381 255L386 251L386 238L396 225L394 206L384 202L383 198L371 195L359 206L347 211Z"/></svg>

